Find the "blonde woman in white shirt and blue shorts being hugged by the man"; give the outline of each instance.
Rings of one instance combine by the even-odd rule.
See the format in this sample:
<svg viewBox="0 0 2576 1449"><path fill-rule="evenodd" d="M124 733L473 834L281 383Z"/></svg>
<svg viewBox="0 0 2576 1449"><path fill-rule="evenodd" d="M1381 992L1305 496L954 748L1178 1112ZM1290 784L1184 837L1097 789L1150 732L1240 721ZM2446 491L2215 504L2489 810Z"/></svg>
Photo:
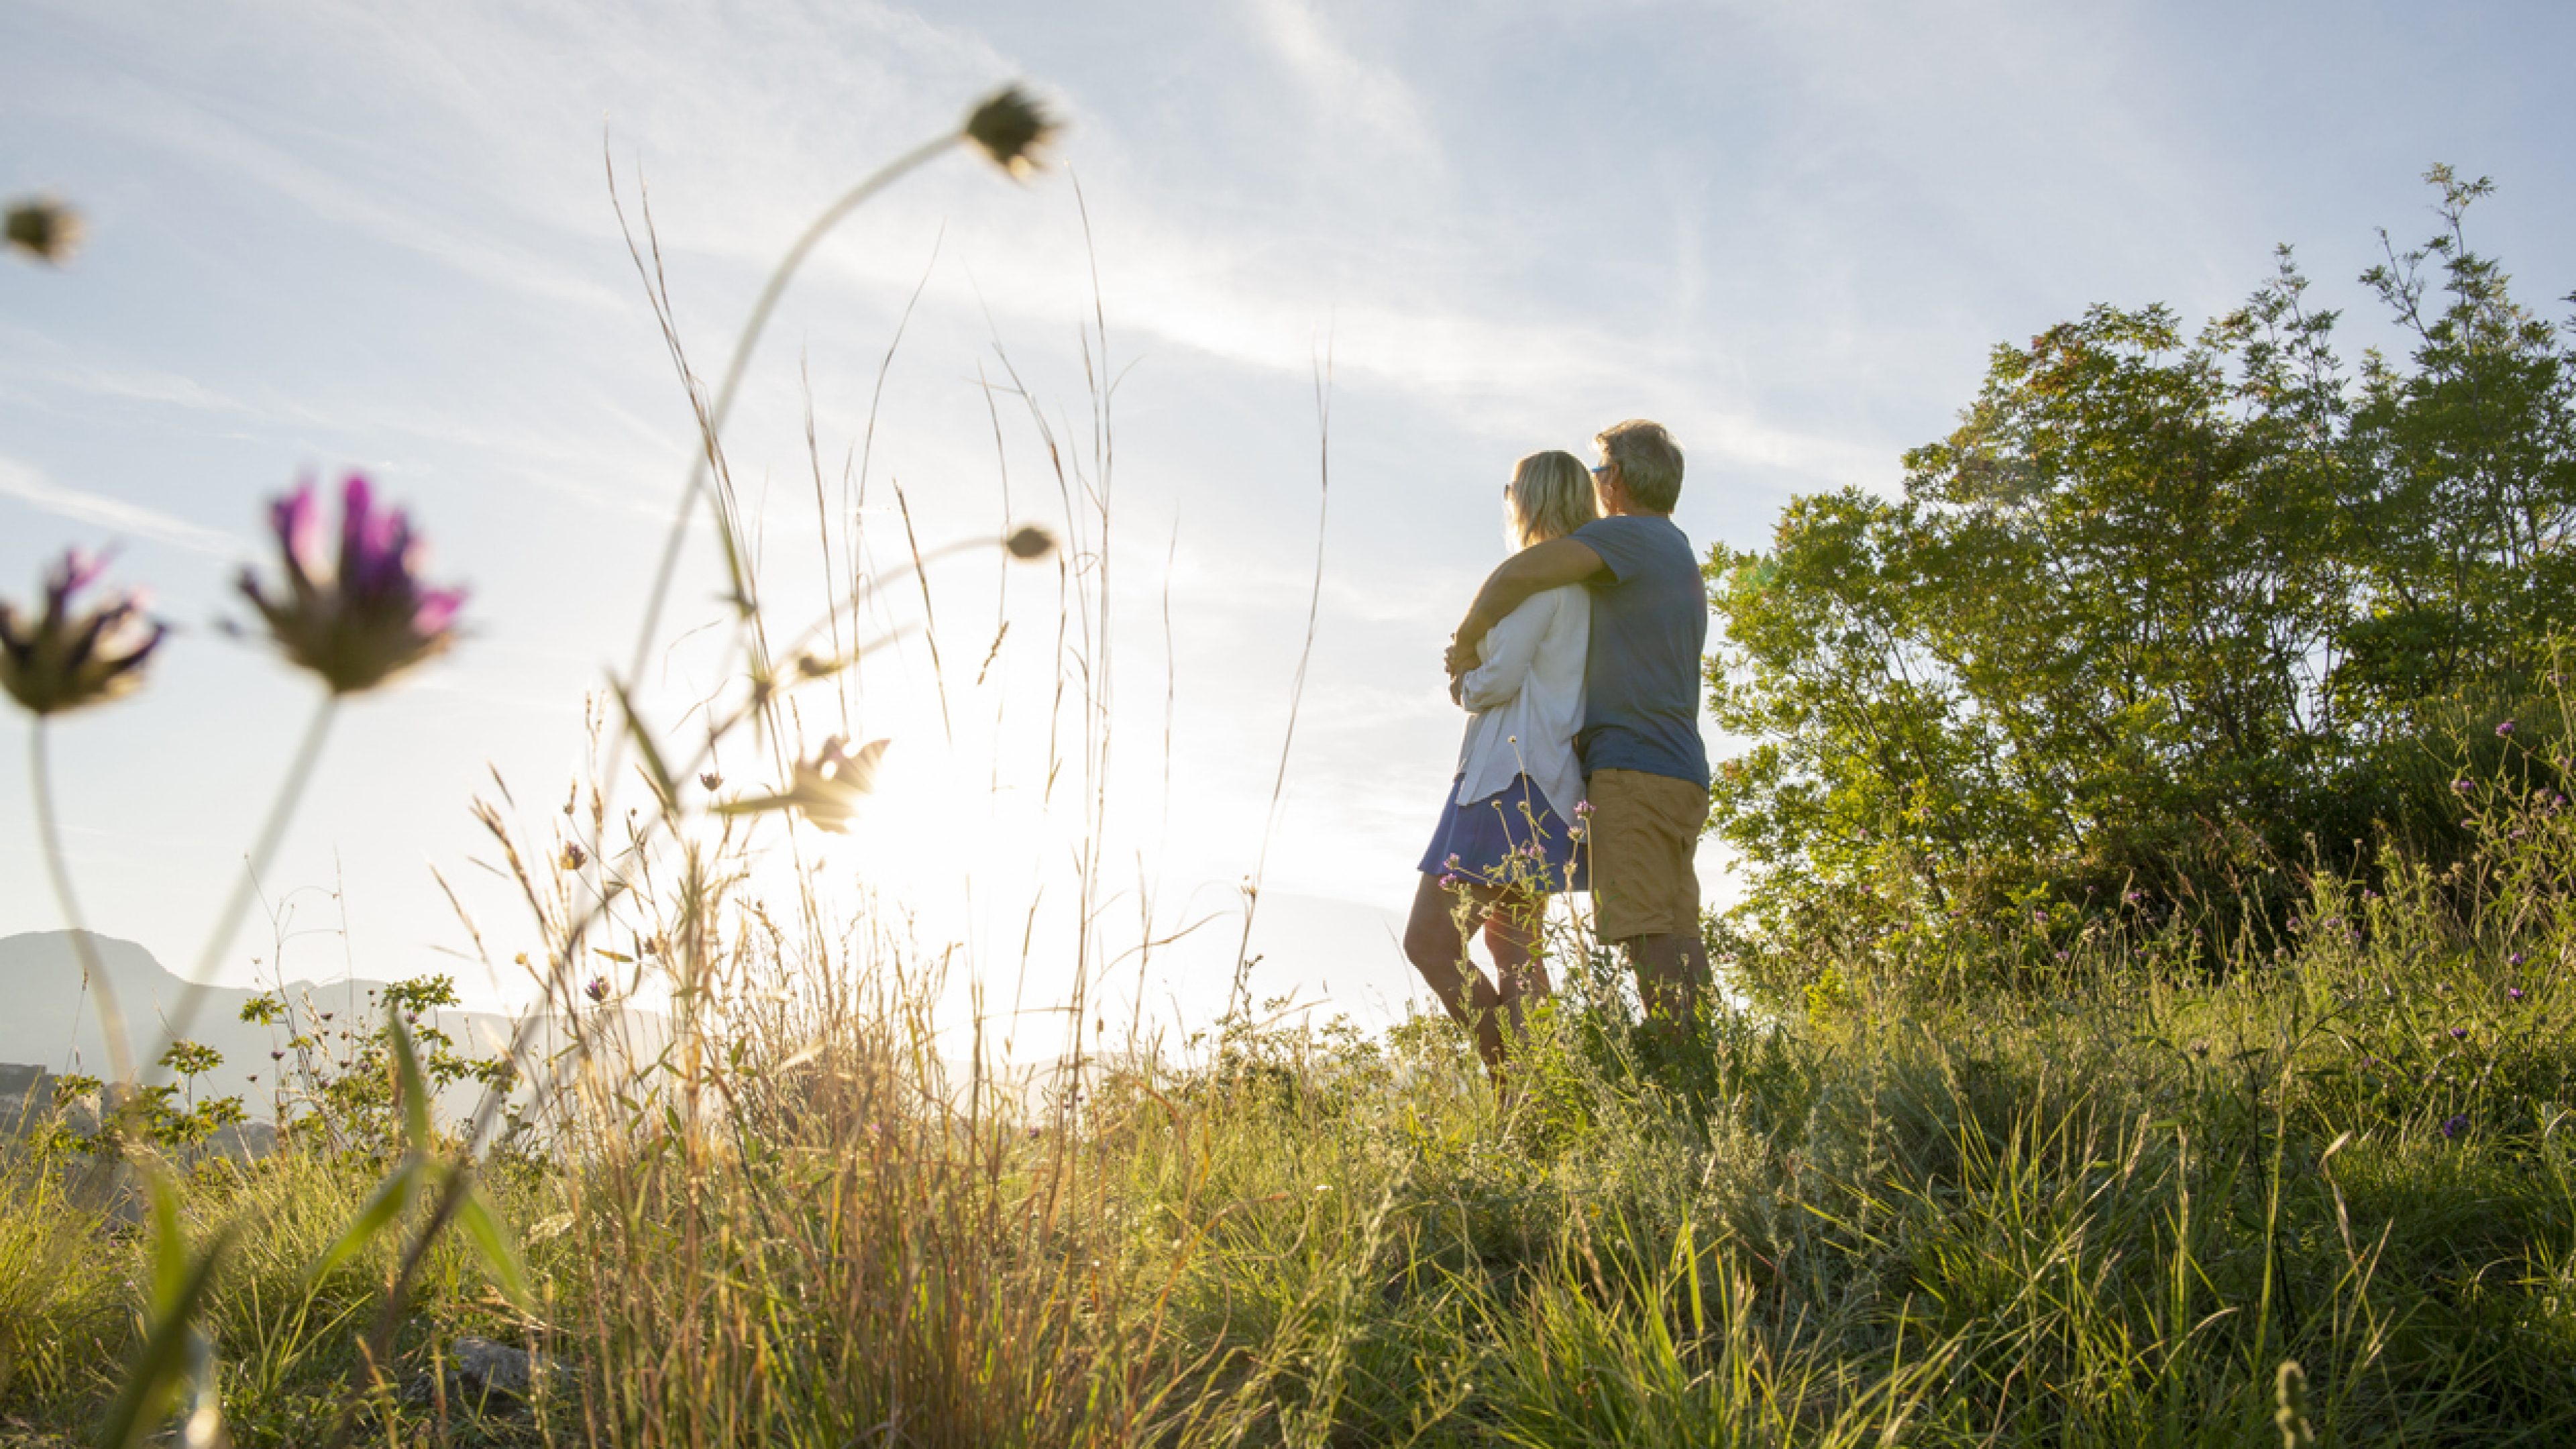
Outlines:
<svg viewBox="0 0 2576 1449"><path fill-rule="evenodd" d="M1600 516L1592 472L1574 454L1530 454L1502 490L1504 541L1528 549ZM1517 1036L1530 1003L1548 995L1535 959L1548 895L1587 890L1574 820L1584 776L1574 732L1584 722L1584 647L1592 596L1582 585L1530 596L1486 632L1479 665L1450 696L1473 717L1458 748L1458 779L1440 828L1422 851L1422 887L1404 923L1404 957L1502 1073L1504 1026ZM1494 980L1468 962L1484 928Z"/></svg>

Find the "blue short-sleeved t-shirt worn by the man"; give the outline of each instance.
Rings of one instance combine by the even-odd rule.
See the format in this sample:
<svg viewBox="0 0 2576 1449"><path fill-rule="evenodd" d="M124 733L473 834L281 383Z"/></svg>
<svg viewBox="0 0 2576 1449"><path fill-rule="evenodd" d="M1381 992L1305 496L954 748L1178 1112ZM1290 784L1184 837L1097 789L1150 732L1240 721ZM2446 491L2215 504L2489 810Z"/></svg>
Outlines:
<svg viewBox="0 0 2576 1449"><path fill-rule="evenodd" d="M1595 518L1574 531L1602 572L1592 588L1592 655L1584 663L1584 730L1574 737L1592 771L1643 771L1708 789L1700 743L1700 652L1708 593L1700 559L1672 518Z"/></svg>

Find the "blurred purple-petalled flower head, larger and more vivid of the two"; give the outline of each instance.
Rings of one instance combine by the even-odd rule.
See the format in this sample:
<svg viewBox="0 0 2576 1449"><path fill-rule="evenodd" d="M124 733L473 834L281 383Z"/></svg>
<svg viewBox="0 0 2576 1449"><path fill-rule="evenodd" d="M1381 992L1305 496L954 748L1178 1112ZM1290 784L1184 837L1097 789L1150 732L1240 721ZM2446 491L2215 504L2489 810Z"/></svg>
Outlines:
<svg viewBox="0 0 2576 1449"><path fill-rule="evenodd" d="M422 544L399 508L376 505L363 474L340 485L340 552L322 531L322 505L307 482L268 511L278 536L283 588L263 590L242 570L242 596L268 621L286 657L314 670L332 694L376 688L456 642L461 588L428 588Z"/></svg>

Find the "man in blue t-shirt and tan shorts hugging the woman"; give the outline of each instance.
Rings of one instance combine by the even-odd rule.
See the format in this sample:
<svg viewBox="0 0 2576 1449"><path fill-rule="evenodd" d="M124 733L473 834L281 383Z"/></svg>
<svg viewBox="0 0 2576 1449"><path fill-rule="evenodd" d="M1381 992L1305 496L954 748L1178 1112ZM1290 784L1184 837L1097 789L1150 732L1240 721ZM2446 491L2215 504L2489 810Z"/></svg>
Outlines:
<svg viewBox="0 0 2576 1449"><path fill-rule="evenodd" d="M1592 588L1584 727L1577 735L1592 802L1592 905L1602 941L1628 951L1649 1026L1682 1039L1708 985L1700 877L1692 851L1708 822L1700 745L1700 652L1708 593L1690 539L1672 523L1682 449L1659 423L1628 420L1595 438L1592 492L1602 518L1528 547L1484 580L1448 650L1450 681L1522 598L1566 583Z"/></svg>

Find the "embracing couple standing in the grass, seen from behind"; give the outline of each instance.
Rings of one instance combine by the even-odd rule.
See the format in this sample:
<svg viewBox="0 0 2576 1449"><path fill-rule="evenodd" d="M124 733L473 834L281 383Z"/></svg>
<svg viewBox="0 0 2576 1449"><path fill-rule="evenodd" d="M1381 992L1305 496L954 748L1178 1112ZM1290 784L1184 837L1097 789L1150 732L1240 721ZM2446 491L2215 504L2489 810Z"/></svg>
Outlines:
<svg viewBox="0 0 2576 1449"><path fill-rule="evenodd" d="M1628 954L1656 1034L1687 1034L1708 985L1690 859L1708 822L1708 596L1672 523L1682 449L1646 420L1595 443L1589 469L1566 451L1515 464L1515 552L1448 650L1468 727L1404 954L1494 1070L1551 990L1535 944L1556 892L1592 892L1595 931ZM1468 959L1479 931L1492 980Z"/></svg>

